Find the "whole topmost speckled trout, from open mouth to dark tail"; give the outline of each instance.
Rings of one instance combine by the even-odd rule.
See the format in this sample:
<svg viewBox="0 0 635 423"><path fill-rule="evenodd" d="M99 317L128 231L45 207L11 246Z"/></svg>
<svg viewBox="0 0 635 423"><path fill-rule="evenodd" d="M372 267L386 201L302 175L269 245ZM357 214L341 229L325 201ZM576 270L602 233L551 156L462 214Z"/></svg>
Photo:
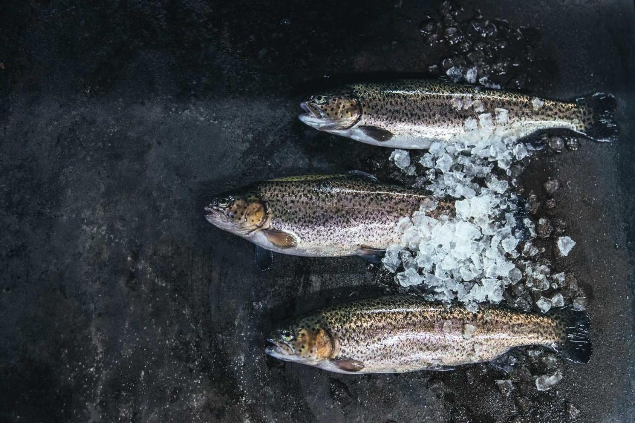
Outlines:
<svg viewBox="0 0 635 423"><path fill-rule="evenodd" d="M596 94L574 102L422 80L349 84L301 104L299 119L317 130L399 149L468 137L468 119L490 114L507 137L560 128L601 141L617 137L615 99ZM485 118L485 120L488 120Z"/></svg>

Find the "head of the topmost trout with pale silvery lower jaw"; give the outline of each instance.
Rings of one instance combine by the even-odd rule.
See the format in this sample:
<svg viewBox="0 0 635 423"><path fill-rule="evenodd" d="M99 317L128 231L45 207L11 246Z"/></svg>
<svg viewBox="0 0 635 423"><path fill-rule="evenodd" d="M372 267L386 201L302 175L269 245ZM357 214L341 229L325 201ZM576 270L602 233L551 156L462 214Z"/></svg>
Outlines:
<svg viewBox="0 0 635 423"><path fill-rule="evenodd" d="M312 95L300 103L304 113L302 123L319 131L342 131L359 122L362 108L352 90L324 92Z"/></svg>

